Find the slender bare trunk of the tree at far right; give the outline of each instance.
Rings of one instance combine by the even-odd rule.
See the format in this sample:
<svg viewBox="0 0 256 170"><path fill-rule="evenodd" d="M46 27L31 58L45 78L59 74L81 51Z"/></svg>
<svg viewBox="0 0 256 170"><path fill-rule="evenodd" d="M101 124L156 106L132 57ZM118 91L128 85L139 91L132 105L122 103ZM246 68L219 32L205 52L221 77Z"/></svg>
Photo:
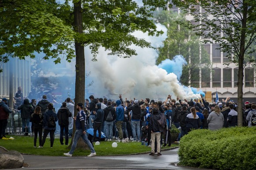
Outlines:
<svg viewBox="0 0 256 170"><path fill-rule="evenodd" d="M248 5L244 3L243 5L243 21L241 29L241 42L240 42L240 53L238 56L238 126L243 125L243 79L244 79L244 55L245 55L245 38L246 38L246 23L247 23L247 13Z"/></svg>

